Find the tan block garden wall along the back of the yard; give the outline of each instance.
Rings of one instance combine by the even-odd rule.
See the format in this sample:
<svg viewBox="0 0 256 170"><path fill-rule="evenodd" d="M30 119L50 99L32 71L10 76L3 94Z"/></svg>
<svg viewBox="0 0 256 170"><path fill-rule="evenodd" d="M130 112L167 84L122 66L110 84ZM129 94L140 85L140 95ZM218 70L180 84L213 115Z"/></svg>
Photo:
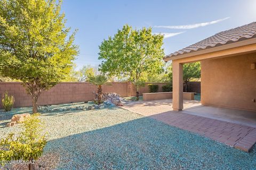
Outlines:
<svg viewBox="0 0 256 170"><path fill-rule="evenodd" d="M162 92L162 86L166 83L146 83L146 86L140 89L141 95L149 92L148 84L158 84L158 91ZM31 97L20 82L0 82L0 95L2 96L5 91L15 97L14 107L31 106ZM89 101L93 100L93 92L97 92L97 86L88 82L61 82L52 89L44 91L39 97L38 104L48 105ZM135 86L131 82L112 82L111 86L103 86L103 92L116 92L122 97L136 95ZM2 108L2 103L0 108Z"/></svg>

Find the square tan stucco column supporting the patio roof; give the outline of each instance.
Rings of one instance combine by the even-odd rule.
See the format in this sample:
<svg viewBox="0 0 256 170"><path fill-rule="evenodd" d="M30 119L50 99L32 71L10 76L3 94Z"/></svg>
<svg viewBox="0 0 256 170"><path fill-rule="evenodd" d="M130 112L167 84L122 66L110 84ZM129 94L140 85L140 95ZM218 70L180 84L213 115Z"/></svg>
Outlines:
<svg viewBox="0 0 256 170"><path fill-rule="evenodd" d="M172 61L172 108L183 109L183 64Z"/></svg>

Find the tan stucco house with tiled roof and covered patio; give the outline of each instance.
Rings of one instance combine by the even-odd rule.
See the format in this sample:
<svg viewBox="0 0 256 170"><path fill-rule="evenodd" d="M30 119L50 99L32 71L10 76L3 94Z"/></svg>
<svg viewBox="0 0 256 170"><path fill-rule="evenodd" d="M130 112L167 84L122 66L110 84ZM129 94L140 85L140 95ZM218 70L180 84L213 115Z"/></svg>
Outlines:
<svg viewBox="0 0 256 170"><path fill-rule="evenodd" d="M175 111L183 109L183 64L198 61L202 105L256 111L256 22L219 32L164 61L172 61Z"/></svg>

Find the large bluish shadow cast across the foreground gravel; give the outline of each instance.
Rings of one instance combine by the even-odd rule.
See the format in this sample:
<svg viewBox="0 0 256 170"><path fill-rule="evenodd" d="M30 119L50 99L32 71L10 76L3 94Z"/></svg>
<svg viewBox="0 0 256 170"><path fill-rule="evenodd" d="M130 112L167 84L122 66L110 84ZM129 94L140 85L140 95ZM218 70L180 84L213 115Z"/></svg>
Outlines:
<svg viewBox="0 0 256 170"><path fill-rule="evenodd" d="M248 154L149 117L51 140L45 151L60 154L57 169L256 167L255 147Z"/></svg>

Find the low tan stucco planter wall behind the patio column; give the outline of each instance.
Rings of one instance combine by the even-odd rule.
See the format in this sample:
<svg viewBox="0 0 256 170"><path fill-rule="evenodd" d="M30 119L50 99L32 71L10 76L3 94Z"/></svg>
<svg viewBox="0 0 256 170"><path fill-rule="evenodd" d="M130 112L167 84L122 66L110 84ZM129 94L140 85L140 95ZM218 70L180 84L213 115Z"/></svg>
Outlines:
<svg viewBox="0 0 256 170"><path fill-rule="evenodd" d="M144 101L172 99L172 92L150 92L142 95ZM194 100L194 92L183 92L183 99Z"/></svg>

